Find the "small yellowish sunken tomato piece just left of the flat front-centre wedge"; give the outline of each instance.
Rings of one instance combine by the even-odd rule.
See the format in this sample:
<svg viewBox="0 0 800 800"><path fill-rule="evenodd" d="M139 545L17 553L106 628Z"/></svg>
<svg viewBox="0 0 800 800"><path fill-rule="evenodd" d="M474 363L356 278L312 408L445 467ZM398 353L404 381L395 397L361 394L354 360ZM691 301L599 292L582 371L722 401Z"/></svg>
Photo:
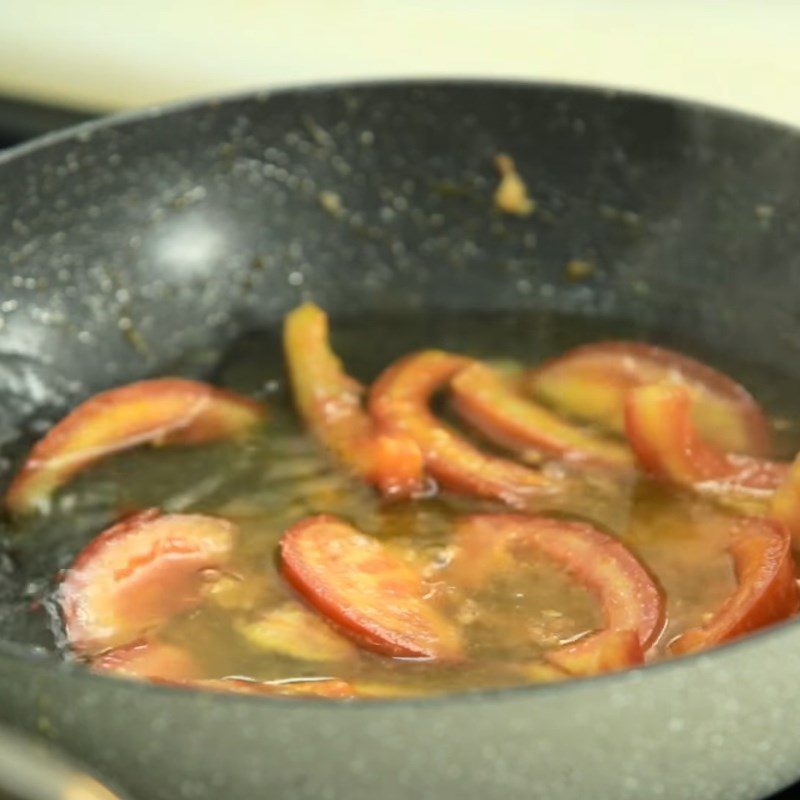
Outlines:
<svg viewBox="0 0 800 800"><path fill-rule="evenodd" d="M238 622L236 629L253 647L300 661L345 661L355 655L347 639L293 601Z"/></svg>

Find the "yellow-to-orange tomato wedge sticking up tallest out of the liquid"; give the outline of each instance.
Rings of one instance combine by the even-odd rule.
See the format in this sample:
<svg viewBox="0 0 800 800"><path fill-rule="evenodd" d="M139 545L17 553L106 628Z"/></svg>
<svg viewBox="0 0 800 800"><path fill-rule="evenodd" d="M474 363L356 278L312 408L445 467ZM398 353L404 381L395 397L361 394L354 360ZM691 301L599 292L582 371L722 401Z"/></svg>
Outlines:
<svg viewBox="0 0 800 800"><path fill-rule="evenodd" d="M328 318L306 303L284 322L284 349L295 405L316 438L343 464L386 497L425 489L417 444L378 431L362 407L363 387L347 375L328 341Z"/></svg>

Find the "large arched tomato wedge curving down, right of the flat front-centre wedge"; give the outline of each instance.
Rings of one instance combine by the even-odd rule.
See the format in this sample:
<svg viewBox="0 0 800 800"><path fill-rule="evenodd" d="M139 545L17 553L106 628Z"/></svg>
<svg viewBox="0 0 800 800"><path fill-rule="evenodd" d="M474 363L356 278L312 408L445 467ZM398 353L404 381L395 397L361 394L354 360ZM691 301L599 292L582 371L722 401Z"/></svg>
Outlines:
<svg viewBox="0 0 800 800"><path fill-rule="evenodd" d="M621 542L587 523L522 514L475 514L459 520L456 536L461 548L469 539L488 544L494 537L517 558L533 549L555 561L597 598L604 630L634 631L642 650L661 633L664 598L653 578ZM477 546L471 555L476 552ZM454 563L457 558L458 553Z"/></svg>

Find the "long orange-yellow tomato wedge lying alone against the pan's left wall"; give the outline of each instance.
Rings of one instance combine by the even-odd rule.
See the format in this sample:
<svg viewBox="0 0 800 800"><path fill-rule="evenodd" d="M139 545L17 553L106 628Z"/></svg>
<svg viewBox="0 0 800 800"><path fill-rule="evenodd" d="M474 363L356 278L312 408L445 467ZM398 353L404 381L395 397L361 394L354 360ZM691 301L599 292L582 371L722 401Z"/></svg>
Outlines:
<svg viewBox="0 0 800 800"><path fill-rule="evenodd" d="M77 472L138 445L195 444L240 434L263 417L246 397L182 378L156 378L91 397L34 445L5 496L14 514L46 509Z"/></svg>

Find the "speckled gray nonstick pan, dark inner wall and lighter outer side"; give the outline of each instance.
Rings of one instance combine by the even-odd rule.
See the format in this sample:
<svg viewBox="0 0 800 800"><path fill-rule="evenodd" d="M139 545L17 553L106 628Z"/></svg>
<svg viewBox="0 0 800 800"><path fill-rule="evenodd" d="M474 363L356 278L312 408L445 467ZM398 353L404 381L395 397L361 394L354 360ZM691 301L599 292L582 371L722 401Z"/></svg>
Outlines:
<svg viewBox="0 0 800 800"><path fill-rule="evenodd" d="M533 216L492 210L498 152L528 179ZM798 175L800 137L759 121L480 83L201 103L0 156L2 468L20 431L105 386L205 374L306 297L339 318L622 319L631 336L793 380ZM596 269L571 283L575 258ZM65 531L42 532L30 585L74 552L59 549ZM0 719L139 800L735 800L800 775L793 623L557 687L352 705L224 697L60 665L26 622L13 555L0 549Z"/></svg>

